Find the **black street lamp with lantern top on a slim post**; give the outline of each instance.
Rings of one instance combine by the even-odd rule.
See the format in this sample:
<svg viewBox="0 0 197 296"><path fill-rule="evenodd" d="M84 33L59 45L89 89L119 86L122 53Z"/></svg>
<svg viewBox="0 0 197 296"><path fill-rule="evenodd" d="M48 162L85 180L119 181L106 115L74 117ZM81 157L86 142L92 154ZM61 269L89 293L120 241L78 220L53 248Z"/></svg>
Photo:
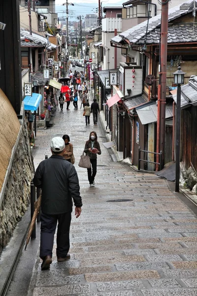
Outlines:
<svg viewBox="0 0 197 296"><path fill-rule="evenodd" d="M184 75L186 73L178 67L173 73L174 83L177 84L176 94L176 174L175 174L175 192L179 192L180 179L180 130L181 130L181 84L184 84Z"/></svg>

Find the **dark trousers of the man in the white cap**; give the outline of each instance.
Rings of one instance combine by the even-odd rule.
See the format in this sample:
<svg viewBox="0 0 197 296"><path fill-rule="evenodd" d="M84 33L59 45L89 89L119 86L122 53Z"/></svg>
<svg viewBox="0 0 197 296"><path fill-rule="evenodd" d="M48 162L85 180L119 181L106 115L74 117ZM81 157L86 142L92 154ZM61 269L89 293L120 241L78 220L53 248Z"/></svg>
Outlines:
<svg viewBox="0 0 197 296"><path fill-rule="evenodd" d="M40 232L40 258L52 257L54 234L58 222L57 249L56 254L59 258L65 258L69 248L69 230L71 222L71 211L60 215L47 215L41 213L41 232Z"/></svg>

